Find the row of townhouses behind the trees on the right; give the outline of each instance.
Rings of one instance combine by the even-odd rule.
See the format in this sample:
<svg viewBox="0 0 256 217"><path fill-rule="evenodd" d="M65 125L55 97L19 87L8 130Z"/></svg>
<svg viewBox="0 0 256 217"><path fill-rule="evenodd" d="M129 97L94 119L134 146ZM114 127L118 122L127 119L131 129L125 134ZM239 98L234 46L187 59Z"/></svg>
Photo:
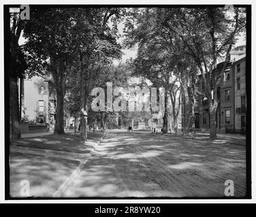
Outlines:
<svg viewBox="0 0 256 217"><path fill-rule="evenodd" d="M246 132L246 47L242 45L231 51L221 83L217 87L219 105L216 120L218 132ZM221 63L220 63L221 64ZM199 83L199 90L204 92L204 82ZM199 128L208 131L210 113L208 100L199 96Z"/></svg>

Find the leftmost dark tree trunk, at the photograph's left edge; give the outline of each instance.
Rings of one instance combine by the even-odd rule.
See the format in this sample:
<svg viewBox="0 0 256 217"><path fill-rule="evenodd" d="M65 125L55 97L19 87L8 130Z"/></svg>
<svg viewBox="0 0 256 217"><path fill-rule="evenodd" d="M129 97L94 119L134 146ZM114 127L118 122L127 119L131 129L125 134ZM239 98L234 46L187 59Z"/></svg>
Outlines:
<svg viewBox="0 0 256 217"><path fill-rule="evenodd" d="M18 106L17 77L10 77L10 116L12 123L12 140L20 139L20 108Z"/></svg>

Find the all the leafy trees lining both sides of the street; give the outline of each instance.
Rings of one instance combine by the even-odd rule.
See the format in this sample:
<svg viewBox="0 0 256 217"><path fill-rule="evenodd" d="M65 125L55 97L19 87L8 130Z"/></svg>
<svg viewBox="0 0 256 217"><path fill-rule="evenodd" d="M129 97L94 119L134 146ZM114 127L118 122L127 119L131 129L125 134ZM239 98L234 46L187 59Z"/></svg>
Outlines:
<svg viewBox="0 0 256 217"><path fill-rule="evenodd" d="M185 99L185 134L195 108L196 94L208 98L210 138L216 137L217 85L221 82L229 52L236 37L244 31L245 12L235 8L121 8L121 7L30 7L30 19L12 14L10 26L10 116L12 138L20 138L18 77L48 76L57 94L54 134L64 133L64 100L69 113L80 113L81 138L86 141L86 125L113 114L89 109L93 87L106 88L106 82L127 85L129 77L143 77L155 87L165 87L163 132L168 113L174 129L180 111L180 92ZM117 39L118 23L125 23L124 45L138 46L138 55L129 67L112 66L121 58ZM23 33L26 42L18 45ZM217 68L217 62L223 61ZM131 71L131 74L130 74ZM196 83L206 85L199 93ZM170 99L172 110L168 106ZM177 106L177 100L179 101ZM96 116L97 117L96 117ZM192 118L192 121L194 118ZM105 121L106 122L106 121ZM91 122L93 123L93 122Z"/></svg>

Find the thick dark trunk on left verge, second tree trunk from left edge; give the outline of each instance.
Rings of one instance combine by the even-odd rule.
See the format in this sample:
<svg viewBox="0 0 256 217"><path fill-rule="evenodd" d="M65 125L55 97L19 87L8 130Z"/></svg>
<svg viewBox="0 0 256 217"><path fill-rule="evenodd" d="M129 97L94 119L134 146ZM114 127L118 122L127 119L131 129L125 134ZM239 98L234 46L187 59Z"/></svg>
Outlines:
<svg viewBox="0 0 256 217"><path fill-rule="evenodd" d="M64 132L64 96L63 91L57 90L57 112L54 134L65 135Z"/></svg>

